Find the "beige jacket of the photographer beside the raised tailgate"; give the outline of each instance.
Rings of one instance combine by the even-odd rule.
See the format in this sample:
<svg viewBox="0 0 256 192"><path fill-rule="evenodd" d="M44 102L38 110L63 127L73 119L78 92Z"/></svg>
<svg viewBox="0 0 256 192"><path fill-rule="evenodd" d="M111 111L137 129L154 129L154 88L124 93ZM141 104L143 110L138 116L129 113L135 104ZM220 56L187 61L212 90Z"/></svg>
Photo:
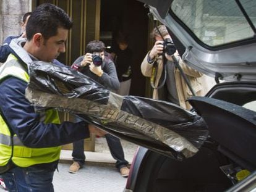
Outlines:
<svg viewBox="0 0 256 192"><path fill-rule="evenodd" d="M148 52L148 54L149 54L149 52ZM152 69L153 69L153 63L150 64L148 62L148 54L145 56L141 66L140 66L141 70L142 70L142 74L145 77L151 77L151 73L152 73ZM175 53L174 56L176 56L177 60L179 61L179 65L181 66L183 72L187 75L187 78L189 79L191 86L194 89L197 96L202 96L203 94L205 94L206 90L203 85L204 82L200 80L200 77L202 77L203 73L200 73L197 70L190 68L184 61L182 61L181 58L179 58L177 53ZM157 87L158 84L160 83L160 78L163 73L163 56L156 57L154 62L155 61L158 63L158 71L157 71L157 74L155 77L156 78L155 87ZM190 96L192 96L192 93L189 90L189 87L187 86L186 81L182 77L181 72L179 72L179 69L175 68L173 74L169 74L167 72L167 75L174 75L175 85L176 85L176 89L177 89L177 96L179 99L179 105L181 107L184 107L185 109L190 109L191 106L189 105L188 102L186 102L186 100ZM169 79L171 79L171 78L169 78ZM170 87L171 82L166 80L166 86ZM153 90L152 98L161 100L161 96L158 94L158 89Z"/></svg>

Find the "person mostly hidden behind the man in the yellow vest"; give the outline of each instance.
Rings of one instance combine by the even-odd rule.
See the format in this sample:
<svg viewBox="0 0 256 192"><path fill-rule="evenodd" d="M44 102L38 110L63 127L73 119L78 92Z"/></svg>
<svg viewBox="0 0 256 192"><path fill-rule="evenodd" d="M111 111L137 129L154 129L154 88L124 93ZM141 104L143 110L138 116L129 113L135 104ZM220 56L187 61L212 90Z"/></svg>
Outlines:
<svg viewBox="0 0 256 192"><path fill-rule="evenodd" d="M11 53L11 49L9 48L9 44L11 43L12 39L15 38L26 38L26 25L28 22L28 19L31 15L31 12L27 12L23 15L22 22L21 22L21 28L22 28L22 33L18 36L8 36L6 40L4 40L4 43L2 46L0 46L0 62L4 63L6 62L7 57Z"/></svg>

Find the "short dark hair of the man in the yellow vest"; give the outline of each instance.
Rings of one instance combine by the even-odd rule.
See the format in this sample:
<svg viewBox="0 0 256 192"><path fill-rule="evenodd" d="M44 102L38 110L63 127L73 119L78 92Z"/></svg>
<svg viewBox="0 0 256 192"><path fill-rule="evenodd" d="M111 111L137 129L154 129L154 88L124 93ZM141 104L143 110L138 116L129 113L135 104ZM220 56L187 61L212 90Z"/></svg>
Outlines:
<svg viewBox="0 0 256 192"><path fill-rule="evenodd" d="M57 35L58 28L70 30L72 21L64 10L54 6L54 4L41 4L33 10L28 19L26 34L28 41L32 40L33 35L41 33L45 40Z"/></svg>

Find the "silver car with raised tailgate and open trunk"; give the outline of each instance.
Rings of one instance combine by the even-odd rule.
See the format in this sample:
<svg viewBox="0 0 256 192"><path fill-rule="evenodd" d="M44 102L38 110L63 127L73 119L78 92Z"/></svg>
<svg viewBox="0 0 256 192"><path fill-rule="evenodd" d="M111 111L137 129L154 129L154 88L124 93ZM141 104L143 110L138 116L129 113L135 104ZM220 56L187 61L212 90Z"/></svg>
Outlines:
<svg viewBox="0 0 256 192"><path fill-rule="evenodd" d="M124 192L256 191L256 1L141 2L182 59L218 84L189 99L210 133L197 154L176 161L139 148Z"/></svg>

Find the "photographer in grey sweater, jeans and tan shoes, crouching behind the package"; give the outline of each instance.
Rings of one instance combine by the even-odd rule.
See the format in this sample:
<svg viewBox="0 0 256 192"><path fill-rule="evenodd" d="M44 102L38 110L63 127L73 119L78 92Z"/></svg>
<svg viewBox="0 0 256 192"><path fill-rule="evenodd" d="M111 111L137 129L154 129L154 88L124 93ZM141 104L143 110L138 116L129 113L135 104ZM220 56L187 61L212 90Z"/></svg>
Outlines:
<svg viewBox="0 0 256 192"><path fill-rule="evenodd" d="M85 56L77 58L71 67L98 81L109 90L118 90L119 81L116 67L111 60L111 55L105 52L105 44L102 41L90 41L87 44L86 51ZM77 118L76 120L80 119ZM124 159L124 151L119 138L110 134L106 134L105 138L111 155L116 159L116 168L122 177L127 177L129 175L129 168L127 167L129 162ZM74 162L70 165L69 172L76 173L85 163L83 140L73 143L72 156Z"/></svg>

